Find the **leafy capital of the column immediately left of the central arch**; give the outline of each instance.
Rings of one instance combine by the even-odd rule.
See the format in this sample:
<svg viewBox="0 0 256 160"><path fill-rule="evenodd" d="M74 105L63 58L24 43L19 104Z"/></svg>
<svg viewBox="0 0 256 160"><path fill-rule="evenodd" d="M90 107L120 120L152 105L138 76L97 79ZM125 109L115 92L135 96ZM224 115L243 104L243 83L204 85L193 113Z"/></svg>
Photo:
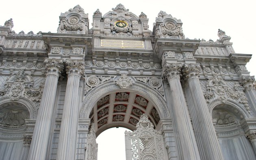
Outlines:
<svg viewBox="0 0 256 160"><path fill-rule="evenodd" d="M84 75L85 74L85 66L83 60L67 60L67 75Z"/></svg>

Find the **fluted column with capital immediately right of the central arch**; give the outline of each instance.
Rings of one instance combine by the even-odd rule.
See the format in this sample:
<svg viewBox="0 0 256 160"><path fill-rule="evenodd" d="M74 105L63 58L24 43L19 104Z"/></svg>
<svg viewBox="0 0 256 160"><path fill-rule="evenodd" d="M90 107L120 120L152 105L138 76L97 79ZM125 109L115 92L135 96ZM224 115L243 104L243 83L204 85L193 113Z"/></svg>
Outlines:
<svg viewBox="0 0 256 160"><path fill-rule="evenodd" d="M170 66L166 65L163 70L163 76L167 77L170 85L170 92L168 92L167 96L169 96L171 101L170 109L174 132L178 142L178 152L182 152L182 154L179 154L182 156L180 159L200 160L189 112L180 84L181 67L181 63L176 63Z"/></svg>

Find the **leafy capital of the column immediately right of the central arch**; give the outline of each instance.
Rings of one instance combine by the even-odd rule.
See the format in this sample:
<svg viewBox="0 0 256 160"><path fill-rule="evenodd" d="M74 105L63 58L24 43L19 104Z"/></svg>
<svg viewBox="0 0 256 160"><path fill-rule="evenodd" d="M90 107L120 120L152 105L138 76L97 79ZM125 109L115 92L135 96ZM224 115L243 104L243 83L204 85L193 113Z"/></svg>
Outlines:
<svg viewBox="0 0 256 160"><path fill-rule="evenodd" d="M181 63L173 63L171 65L165 65L163 67L163 72L162 72L162 78L164 79L171 79L171 78L178 78L180 79L180 71L182 68Z"/></svg>

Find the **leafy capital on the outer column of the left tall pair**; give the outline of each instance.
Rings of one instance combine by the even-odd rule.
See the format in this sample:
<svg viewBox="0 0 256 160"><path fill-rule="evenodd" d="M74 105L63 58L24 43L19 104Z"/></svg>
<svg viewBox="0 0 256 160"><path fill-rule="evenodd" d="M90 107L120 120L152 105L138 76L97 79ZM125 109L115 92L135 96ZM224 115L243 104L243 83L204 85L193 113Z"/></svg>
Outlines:
<svg viewBox="0 0 256 160"><path fill-rule="evenodd" d="M57 77L60 76L61 71L63 70L63 60L56 58L45 58L44 62L46 65L46 76L47 75L55 75Z"/></svg>

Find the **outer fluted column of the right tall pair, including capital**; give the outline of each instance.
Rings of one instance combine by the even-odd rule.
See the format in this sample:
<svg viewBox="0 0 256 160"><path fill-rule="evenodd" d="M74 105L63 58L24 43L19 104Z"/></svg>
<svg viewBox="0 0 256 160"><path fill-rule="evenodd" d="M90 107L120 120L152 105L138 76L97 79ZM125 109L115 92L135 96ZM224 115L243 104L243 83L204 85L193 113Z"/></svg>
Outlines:
<svg viewBox="0 0 256 160"><path fill-rule="evenodd" d="M204 160L223 160L223 155L213 126L212 116L204 98L199 81L198 69L200 64L185 64L184 75L191 91L193 105L191 105L191 117L195 132L200 134L197 143L201 150L200 156Z"/></svg>

